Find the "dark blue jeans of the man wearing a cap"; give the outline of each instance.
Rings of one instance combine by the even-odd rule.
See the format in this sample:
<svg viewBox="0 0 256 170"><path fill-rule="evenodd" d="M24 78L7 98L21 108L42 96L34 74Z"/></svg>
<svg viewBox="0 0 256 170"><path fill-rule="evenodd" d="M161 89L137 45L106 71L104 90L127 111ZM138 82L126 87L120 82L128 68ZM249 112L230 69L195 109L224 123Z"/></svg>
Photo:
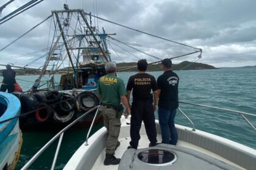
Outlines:
<svg viewBox="0 0 256 170"><path fill-rule="evenodd" d="M174 118L176 116L176 109L169 110L158 107L158 120L162 132L162 143L177 144L178 134L174 125ZM171 140L170 140L171 134Z"/></svg>

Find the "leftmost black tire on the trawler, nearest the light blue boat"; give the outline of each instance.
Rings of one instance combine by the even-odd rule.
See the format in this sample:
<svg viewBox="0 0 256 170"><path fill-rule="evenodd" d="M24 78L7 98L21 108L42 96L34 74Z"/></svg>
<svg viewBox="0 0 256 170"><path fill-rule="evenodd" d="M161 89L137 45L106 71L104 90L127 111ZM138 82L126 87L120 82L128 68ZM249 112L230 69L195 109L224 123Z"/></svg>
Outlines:
<svg viewBox="0 0 256 170"><path fill-rule="evenodd" d="M35 98L34 95L23 94L20 97L20 101L21 101L21 115L37 109L37 98ZM29 114L29 115L32 115L32 114ZM25 117L27 117L27 115Z"/></svg>

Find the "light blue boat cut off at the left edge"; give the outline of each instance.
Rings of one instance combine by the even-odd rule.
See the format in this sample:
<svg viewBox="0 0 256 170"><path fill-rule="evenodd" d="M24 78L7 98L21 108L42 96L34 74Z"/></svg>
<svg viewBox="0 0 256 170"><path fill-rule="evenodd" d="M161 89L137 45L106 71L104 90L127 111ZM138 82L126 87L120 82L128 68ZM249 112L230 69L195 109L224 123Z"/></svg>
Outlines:
<svg viewBox="0 0 256 170"><path fill-rule="evenodd" d="M21 104L12 94L0 92L0 122L20 115ZM0 169L14 169L20 157L22 134L18 118L0 123Z"/></svg>

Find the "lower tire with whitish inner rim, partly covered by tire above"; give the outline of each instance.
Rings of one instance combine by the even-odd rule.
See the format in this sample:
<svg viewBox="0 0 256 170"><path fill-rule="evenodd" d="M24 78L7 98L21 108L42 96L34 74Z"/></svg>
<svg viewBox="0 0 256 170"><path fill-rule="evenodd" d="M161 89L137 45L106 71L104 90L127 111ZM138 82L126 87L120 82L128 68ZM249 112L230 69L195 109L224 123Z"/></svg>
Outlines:
<svg viewBox="0 0 256 170"><path fill-rule="evenodd" d="M70 105L68 102L66 103L68 105ZM69 106L71 107L71 106ZM60 121L62 123L65 123L69 120L71 120L74 116L74 109L71 110L70 112L63 112L62 110L58 110L58 107L54 107L54 120Z"/></svg>

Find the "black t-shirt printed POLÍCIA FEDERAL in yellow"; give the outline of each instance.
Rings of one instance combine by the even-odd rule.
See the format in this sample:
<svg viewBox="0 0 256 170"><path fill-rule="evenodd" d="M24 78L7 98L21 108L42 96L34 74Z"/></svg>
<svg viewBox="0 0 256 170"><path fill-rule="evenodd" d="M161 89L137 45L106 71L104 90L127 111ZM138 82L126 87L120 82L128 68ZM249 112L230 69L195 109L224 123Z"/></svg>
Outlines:
<svg viewBox="0 0 256 170"><path fill-rule="evenodd" d="M128 80L126 90L132 90L133 102L152 100L151 89L157 90L157 81L148 73L137 73Z"/></svg>

